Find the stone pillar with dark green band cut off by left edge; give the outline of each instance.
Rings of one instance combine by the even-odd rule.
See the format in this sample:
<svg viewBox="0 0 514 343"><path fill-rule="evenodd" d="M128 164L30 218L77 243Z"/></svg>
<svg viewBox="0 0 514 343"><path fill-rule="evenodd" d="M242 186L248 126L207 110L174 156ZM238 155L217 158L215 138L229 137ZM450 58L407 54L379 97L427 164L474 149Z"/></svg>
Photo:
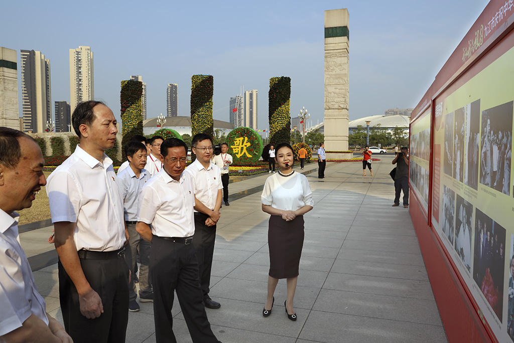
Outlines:
<svg viewBox="0 0 514 343"><path fill-rule="evenodd" d="M20 130L16 50L0 47L0 126Z"/></svg>

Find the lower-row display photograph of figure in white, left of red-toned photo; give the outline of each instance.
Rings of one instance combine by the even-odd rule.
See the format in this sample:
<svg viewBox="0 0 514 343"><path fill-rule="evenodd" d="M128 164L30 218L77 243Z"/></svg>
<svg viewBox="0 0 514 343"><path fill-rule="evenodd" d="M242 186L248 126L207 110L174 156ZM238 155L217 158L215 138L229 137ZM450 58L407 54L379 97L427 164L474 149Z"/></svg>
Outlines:
<svg viewBox="0 0 514 343"><path fill-rule="evenodd" d="M455 203L455 250L468 272L471 272L471 224L473 205L457 194Z"/></svg>

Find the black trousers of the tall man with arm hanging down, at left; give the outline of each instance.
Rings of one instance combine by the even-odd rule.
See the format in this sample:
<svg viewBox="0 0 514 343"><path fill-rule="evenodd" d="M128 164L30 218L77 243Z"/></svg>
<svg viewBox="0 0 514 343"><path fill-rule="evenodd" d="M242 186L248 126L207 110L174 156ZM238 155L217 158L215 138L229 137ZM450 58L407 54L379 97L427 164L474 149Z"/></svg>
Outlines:
<svg viewBox="0 0 514 343"><path fill-rule="evenodd" d="M87 319L80 313L77 288L59 260L59 300L66 332L75 343L123 343L128 322L125 259L81 259L80 264L87 281L102 299L103 313L95 319Z"/></svg>

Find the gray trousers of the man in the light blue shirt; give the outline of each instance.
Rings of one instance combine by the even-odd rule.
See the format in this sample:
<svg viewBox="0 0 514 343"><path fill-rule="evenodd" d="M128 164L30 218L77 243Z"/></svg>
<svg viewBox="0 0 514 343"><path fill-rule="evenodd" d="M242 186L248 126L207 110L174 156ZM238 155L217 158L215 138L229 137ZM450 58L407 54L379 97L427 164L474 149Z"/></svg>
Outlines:
<svg viewBox="0 0 514 343"><path fill-rule="evenodd" d="M139 250L139 259L141 265L139 267L139 296L149 297L152 294L152 285L149 278L150 265L150 243L146 242L139 236L136 231L136 224L127 224L128 228L128 246L125 249L125 260L131 270L132 277L128 284L128 292L130 301L136 300L136 285L134 284L134 275L136 269L136 255Z"/></svg>

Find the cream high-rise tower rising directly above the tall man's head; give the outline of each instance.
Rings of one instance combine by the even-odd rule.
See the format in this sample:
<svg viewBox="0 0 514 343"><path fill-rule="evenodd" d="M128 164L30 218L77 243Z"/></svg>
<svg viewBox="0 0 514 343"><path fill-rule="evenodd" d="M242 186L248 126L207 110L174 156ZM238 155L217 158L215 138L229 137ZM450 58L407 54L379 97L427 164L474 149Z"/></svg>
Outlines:
<svg viewBox="0 0 514 343"><path fill-rule="evenodd" d="M94 100L93 51L89 46L69 49L69 94L71 113L81 101Z"/></svg>

